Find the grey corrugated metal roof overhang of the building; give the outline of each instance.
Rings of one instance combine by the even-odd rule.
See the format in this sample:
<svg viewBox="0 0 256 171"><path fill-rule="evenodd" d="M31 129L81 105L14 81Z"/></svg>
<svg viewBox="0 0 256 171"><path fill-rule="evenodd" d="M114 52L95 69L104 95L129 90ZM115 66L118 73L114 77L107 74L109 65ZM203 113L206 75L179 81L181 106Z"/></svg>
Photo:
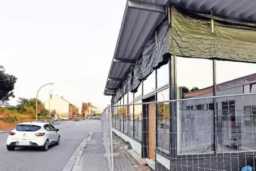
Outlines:
<svg viewBox="0 0 256 171"><path fill-rule="evenodd" d="M128 0L104 90L105 95L113 95L120 88L141 54L145 42L165 18L169 4L256 21L255 0Z"/></svg>

